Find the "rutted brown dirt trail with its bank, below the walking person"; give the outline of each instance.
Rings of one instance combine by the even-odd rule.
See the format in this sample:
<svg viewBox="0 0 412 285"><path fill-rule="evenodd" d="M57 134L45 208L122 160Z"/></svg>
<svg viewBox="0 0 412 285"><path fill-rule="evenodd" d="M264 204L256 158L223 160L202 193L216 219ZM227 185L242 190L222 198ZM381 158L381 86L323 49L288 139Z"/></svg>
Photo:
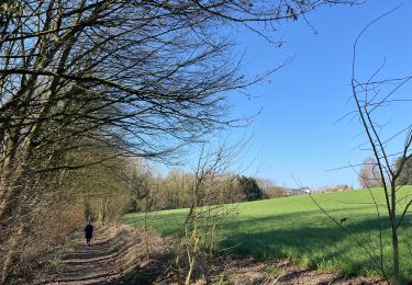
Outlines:
<svg viewBox="0 0 412 285"><path fill-rule="evenodd" d="M58 269L41 284L153 284L165 270L168 253L158 235L148 238L143 230L121 225L97 230L88 247L81 233L58 259Z"/></svg>

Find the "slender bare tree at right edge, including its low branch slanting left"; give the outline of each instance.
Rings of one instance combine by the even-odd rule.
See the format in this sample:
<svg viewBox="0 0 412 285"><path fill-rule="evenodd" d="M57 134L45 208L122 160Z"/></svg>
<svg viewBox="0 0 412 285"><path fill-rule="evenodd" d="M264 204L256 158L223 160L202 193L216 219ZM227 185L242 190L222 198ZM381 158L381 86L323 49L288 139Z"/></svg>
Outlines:
<svg viewBox="0 0 412 285"><path fill-rule="evenodd" d="M399 7L398 7L399 8ZM412 124L407 122L398 132L389 133L386 127L388 123L388 111L393 111L392 118L401 116L400 106L404 107L410 103L409 98L404 98L400 90L407 88L407 83L412 80L412 76L407 75L397 78L377 79L386 66L386 60L379 68L366 80L360 80L357 75L357 48L361 36L368 29L382 18L396 11L398 8L382 14L372 22L370 22L356 37L353 46L353 61L352 61L352 95L355 101L356 110L349 115L357 117L363 127L363 134L367 137L367 141L361 144L359 148L371 152L372 157L367 158L364 163L359 164L360 173L355 170L354 166L349 166L359 178L359 183L365 186L370 194L371 203L375 207L378 221L378 239L379 247L370 242L370 237L359 237L355 231L347 228L344 223L349 220L349 217L344 217L341 220L334 218L327 210L325 210L312 195L310 198L316 206L333 221L336 226L342 228L365 253L370 258L370 261L377 266L383 278L393 284L402 284L404 281L401 272L402 262L409 262L412 258L412 250L407 239L399 240L399 232L409 230L404 220L412 213L412 194L408 189L402 191L404 185L403 175L408 175L408 163L412 158ZM383 111L385 112L379 112ZM407 111L409 116L409 110ZM385 123L382 123L382 121ZM394 148L396 147L396 148ZM393 149L396 149L393 151ZM346 168L346 167L344 167ZM342 169L342 168L341 168ZM370 183L370 182L374 183ZM297 184L300 183L297 181ZM379 184L376 191L371 191ZM379 193L379 191L381 191ZM379 201L379 195L385 198L383 204ZM355 203L356 204L356 203ZM365 203L361 203L365 204ZM387 215L385 215L385 213ZM385 221L390 225L390 241L391 241L391 261L387 262L385 254ZM411 254L407 259L401 259L400 247L405 247L405 250ZM390 266L387 265L390 264Z"/></svg>

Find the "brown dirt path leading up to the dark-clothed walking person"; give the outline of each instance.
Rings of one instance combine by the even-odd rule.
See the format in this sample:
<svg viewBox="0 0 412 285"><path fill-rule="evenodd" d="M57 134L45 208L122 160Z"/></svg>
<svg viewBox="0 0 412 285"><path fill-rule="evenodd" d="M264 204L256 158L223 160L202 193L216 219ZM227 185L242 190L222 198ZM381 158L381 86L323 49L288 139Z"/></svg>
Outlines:
<svg viewBox="0 0 412 285"><path fill-rule="evenodd" d="M94 236L90 247L83 237L77 237L73 249L60 256L58 270L41 284L134 284L145 275L141 271L146 243L141 232L122 226Z"/></svg>

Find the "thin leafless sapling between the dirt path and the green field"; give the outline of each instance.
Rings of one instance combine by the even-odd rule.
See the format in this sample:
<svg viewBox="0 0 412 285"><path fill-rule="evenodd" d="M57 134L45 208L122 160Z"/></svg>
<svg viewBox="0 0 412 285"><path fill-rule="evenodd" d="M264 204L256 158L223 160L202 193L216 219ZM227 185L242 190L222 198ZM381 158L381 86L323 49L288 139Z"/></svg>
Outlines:
<svg viewBox="0 0 412 285"><path fill-rule="evenodd" d="M236 147L243 146L240 144ZM185 284L191 283L196 263L199 262L201 254L208 252L209 258L212 256L220 223L233 210L230 205L222 204L220 198L222 194L230 191L231 183L237 179L237 175L229 171L231 162L238 155L233 150L224 146L210 151L202 148L199 156L193 180L190 183L189 212L177 241L176 265L179 284L183 283L182 273L185 273ZM226 184L222 185L222 181ZM179 255L181 250L185 251L185 258ZM186 261L186 266L182 260Z"/></svg>

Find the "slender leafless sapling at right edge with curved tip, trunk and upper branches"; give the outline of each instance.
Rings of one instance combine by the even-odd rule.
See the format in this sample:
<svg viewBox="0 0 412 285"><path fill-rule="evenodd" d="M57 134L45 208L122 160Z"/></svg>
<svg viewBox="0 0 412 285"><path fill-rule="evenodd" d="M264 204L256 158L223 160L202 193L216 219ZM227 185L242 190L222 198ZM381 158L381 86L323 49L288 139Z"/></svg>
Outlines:
<svg viewBox="0 0 412 285"><path fill-rule="evenodd" d="M357 115L363 125L365 134L368 138L369 151L372 152L376 160L376 167L379 173L379 179L382 183L382 192L385 194L385 208L388 214L391 229L391 244L392 244L392 272L393 282L401 284L401 260L399 255L399 231L407 215L410 214L412 205L411 194L402 194L398 187L398 180L407 161L412 157L412 124L405 125L396 134L386 134L385 124L379 123L378 114L381 109L388 109L394 104L405 104L410 100L404 100L397 96L401 88L405 87L412 80L412 76L404 76L400 78L385 78L377 79L378 75L385 67L383 64L378 70L371 75L367 80L360 80L356 73L357 47L359 39L367 32L367 30L377 21L393 12L394 10L379 16L367 25L357 36L353 48L353 73L352 73L352 90L353 96L357 107ZM397 113L394 116L399 115ZM388 145L390 142L400 142L401 147L396 152L389 152ZM403 141L403 144L402 144ZM398 163L394 166L392 159L398 158ZM371 194L374 197L374 194ZM379 205L374 197L375 205L378 210ZM407 244L405 241L404 244Z"/></svg>

